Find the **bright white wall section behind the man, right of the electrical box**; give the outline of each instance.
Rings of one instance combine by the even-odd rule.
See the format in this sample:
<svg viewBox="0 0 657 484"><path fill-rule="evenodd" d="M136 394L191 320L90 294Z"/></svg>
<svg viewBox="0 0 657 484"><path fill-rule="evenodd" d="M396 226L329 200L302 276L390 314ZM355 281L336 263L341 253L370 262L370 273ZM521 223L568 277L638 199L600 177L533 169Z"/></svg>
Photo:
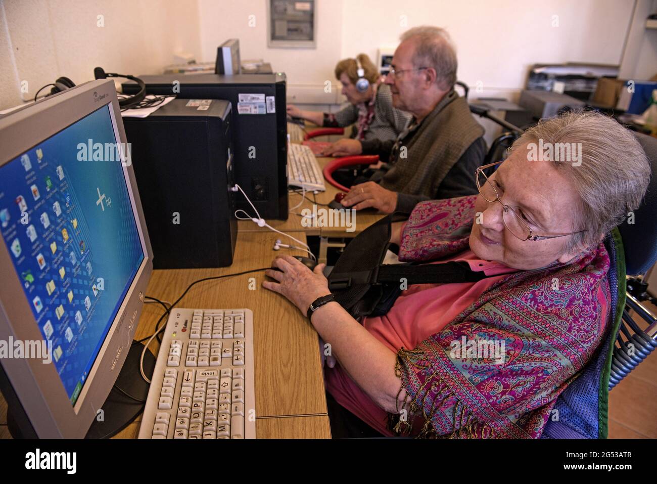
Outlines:
<svg viewBox="0 0 657 484"><path fill-rule="evenodd" d="M484 93L517 92L536 63L618 64L633 0L380 0L344 3L342 55L398 43L423 24L446 28L459 58L459 80ZM553 16L558 17L553 17ZM558 20L558 26L553 22Z"/></svg>

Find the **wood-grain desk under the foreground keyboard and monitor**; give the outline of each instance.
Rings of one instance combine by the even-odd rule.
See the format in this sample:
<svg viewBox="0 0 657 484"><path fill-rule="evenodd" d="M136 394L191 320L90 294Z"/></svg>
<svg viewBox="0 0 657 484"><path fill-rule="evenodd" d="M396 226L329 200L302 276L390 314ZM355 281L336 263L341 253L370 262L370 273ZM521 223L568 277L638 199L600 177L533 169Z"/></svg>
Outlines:
<svg viewBox="0 0 657 484"><path fill-rule="evenodd" d="M277 234L238 233L235 262L227 268L155 270L147 295L173 303L196 279L269 267L277 254L272 250ZM305 235L298 237L305 241ZM304 255L300 251L286 251ZM249 289L249 279L256 289ZM256 435L267 438L330 438L323 370L317 333L299 310L282 296L261 287L264 272L194 285L177 304L182 308L250 308L254 316L254 366L256 372ZM135 339L152 334L162 315L158 304L145 304ZM158 342L150 349L155 353ZM135 378L140 378L135 369ZM6 408L4 399L0 410ZM5 410L6 412L6 410ZM116 438L135 438L141 416ZM2 422L6 423L6 418ZM0 437L9 437L6 425Z"/></svg>

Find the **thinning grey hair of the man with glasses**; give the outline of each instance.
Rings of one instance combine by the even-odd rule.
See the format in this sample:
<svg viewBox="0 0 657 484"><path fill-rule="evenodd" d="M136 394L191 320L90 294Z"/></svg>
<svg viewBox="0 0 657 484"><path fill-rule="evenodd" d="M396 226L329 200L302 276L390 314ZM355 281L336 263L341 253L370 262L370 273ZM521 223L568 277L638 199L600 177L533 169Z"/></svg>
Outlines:
<svg viewBox="0 0 657 484"><path fill-rule="evenodd" d="M434 26L420 26L407 30L399 39L404 42L415 39L413 65L436 69L436 84L443 90L454 87L456 82L456 49L447 30Z"/></svg>

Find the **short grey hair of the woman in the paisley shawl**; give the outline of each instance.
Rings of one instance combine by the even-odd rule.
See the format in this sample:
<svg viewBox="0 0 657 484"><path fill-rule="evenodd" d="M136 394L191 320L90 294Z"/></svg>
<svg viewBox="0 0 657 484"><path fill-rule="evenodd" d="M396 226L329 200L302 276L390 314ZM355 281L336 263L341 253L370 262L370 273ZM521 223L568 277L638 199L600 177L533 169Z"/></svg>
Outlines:
<svg viewBox="0 0 657 484"><path fill-rule="evenodd" d="M578 143L580 147L576 163L553 159L555 168L565 172L578 190L579 226L574 230L585 230L568 237L567 252L578 245L599 243L600 234L608 233L641 204L650 180L650 162L636 137L609 116L580 110L541 120L516 139L511 149L539 140L543 146Z"/></svg>

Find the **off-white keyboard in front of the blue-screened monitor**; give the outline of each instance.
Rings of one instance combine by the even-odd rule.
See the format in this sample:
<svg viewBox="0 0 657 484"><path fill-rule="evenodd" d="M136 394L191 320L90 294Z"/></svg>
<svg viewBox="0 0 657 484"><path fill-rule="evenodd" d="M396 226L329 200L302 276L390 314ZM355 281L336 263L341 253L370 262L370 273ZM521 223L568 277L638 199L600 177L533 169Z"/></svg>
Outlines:
<svg viewBox="0 0 657 484"><path fill-rule="evenodd" d="M253 313L173 308L139 439L255 439Z"/></svg>

